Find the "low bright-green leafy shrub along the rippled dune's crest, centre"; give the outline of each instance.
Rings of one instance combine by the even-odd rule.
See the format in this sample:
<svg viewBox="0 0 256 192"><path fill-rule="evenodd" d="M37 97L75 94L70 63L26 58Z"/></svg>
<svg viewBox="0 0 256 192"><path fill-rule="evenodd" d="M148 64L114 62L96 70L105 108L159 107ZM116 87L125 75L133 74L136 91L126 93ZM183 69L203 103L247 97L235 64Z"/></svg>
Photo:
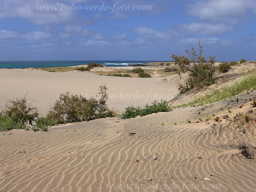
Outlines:
<svg viewBox="0 0 256 192"><path fill-rule="evenodd" d="M167 101L161 100L161 102L152 102L151 105L146 104L143 108L141 107L127 107L123 112L121 119L131 119L136 116L146 116L152 113L158 112L169 112L172 111L171 106L168 105Z"/></svg>

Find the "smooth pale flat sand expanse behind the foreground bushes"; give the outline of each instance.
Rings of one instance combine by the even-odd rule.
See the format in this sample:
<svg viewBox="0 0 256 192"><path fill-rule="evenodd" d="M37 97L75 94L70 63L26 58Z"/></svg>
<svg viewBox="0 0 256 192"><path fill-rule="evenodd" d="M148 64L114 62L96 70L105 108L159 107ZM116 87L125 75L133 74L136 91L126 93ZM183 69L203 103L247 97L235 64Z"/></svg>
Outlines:
<svg viewBox="0 0 256 192"><path fill-rule="evenodd" d="M98 87L106 84L110 108L124 111L128 106L144 106L154 100L171 100L178 94L176 82L157 78L128 78L94 75L76 72L28 71L22 69L0 69L0 106L9 99L27 94L39 112L44 114L61 93L70 91L83 97L97 95Z"/></svg>

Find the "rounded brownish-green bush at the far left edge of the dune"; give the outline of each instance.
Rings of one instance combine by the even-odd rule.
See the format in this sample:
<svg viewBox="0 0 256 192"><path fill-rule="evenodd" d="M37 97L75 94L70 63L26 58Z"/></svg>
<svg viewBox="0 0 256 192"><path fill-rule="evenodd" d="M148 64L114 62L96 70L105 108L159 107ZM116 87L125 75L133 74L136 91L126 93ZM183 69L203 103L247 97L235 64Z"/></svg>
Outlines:
<svg viewBox="0 0 256 192"><path fill-rule="evenodd" d="M37 108L33 107L31 103L27 103L26 95L16 101L9 100L2 113L16 125L26 125L27 122L32 125L39 115Z"/></svg>

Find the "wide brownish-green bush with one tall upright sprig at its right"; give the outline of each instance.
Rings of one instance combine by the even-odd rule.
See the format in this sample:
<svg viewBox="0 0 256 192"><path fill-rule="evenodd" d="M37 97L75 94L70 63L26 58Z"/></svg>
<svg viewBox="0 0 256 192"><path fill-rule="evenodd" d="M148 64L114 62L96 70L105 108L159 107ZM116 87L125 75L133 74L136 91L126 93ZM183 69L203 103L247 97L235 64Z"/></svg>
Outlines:
<svg viewBox="0 0 256 192"><path fill-rule="evenodd" d="M69 92L61 94L49 111L48 117L57 123L90 121L104 117L112 117L112 111L107 107L107 87L100 86L100 99L86 99L81 95L72 95Z"/></svg>

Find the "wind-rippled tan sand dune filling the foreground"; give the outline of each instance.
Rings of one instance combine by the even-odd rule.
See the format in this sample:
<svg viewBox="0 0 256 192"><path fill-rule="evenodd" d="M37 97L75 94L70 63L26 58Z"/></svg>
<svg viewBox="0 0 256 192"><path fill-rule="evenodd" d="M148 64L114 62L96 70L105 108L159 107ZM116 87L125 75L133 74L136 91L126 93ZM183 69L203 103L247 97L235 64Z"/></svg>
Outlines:
<svg viewBox="0 0 256 192"><path fill-rule="evenodd" d="M231 147L243 137L255 146L253 131L243 135L227 126L229 119L197 123L212 113L223 117L230 103L232 119L236 112L252 109L246 99L253 95L48 132L2 132L1 191L254 191L255 160Z"/></svg>

